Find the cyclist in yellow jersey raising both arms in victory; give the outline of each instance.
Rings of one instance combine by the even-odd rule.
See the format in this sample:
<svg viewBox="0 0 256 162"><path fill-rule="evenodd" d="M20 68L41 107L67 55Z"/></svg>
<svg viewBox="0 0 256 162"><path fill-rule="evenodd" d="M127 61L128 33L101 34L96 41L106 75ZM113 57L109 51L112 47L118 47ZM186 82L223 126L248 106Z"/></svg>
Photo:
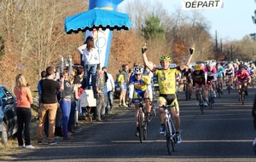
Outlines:
<svg viewBox="0 0 256 162"><path fill-rule="evenodd" d="M175 119L175 128L177 130L177 143L181 143L182 139L179 134L180 130L180 117L179 117L179 107L177 102L176 92L176 76L179 72L181 72L185 67L189 66L189 62L191 61L192 54L194 52L194 48L190 48L190 55L188 59L183 63L183 65L179 67L169 67L170 62L172 61L169 55L162 55L160 57L160 65L161 69L153 67L148 63L148 58L146 55L147 47L146 45L142 48L143 53L143 61L145 65L152 71L158 78L159 89L160 89L160 97L158 98L158 104L160 107L160 134L163 135L165 133L165 125L164 125L164 109L162 106L171 105L176 107L172 107L172 115Z"/></svg>

